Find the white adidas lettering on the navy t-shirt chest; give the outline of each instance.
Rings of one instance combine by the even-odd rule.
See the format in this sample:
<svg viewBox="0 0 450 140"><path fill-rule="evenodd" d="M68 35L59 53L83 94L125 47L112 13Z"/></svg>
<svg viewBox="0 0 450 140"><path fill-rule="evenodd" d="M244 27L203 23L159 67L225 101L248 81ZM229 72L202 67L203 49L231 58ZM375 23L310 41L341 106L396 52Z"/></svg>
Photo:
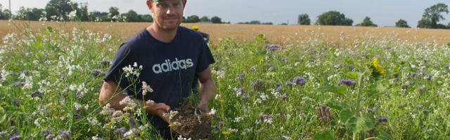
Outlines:
<svg viewBox="0 0 450 140"><path fill-rule="evenodd" d="M194 66L192 59L179 60L178 58L175 58L175 61L173 62L170 62L170 59L165 59L164 63L153 65L153 72L158 74L162 72L176 71L179 69L188 69L192 66Z"/></svg>

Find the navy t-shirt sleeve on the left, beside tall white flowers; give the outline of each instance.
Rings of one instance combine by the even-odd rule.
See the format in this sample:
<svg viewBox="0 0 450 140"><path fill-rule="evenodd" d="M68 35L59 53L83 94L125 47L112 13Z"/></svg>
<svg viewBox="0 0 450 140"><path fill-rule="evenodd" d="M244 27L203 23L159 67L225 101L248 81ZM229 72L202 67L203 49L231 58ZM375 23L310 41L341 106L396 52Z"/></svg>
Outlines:
<svg viewBox="0 0 450 140"><path fill-rule="evenodd" d="M115 83L120 85L120 87L125 88L128 87L129 81L125 77L123 67L131 64L131 47L127 43L122 43L117 52L115 53L113 64L111 65L108 73L106 73L105 78L103 80L113 80ZM132 64L131 64L132 65ZM125 89L125 92L128 90Z"/></svg>

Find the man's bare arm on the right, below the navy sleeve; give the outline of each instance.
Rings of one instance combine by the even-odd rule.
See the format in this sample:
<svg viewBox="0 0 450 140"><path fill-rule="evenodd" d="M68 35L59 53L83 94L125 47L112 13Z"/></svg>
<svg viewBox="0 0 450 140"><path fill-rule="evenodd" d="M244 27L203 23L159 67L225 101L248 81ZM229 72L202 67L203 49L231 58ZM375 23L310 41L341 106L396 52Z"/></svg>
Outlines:
<svg viewBox="0 0 450 140"><path fill-rule="evenodd" d="M202 109L205 112L208 112L208 102L212 99L214 95L214 90L216 90L216 85L212 80L211 69L208 67L204 71L201 71L198 74L198 80L200 81L200 92L202 93L200 103L198 104L198 109Z"/></svg>

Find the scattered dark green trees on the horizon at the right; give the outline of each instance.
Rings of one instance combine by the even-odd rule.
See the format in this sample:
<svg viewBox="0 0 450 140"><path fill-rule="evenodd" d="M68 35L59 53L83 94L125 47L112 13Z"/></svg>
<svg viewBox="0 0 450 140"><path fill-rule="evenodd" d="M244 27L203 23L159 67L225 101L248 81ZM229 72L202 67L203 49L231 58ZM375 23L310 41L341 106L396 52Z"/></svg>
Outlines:
<svg viewBox="0 0 450 140"><path fill-rule="evenodd" d="M431 28L431 29L450 29L450 23L448 25L437 24L440 20L445 20L443 13L448 14L449 8L444 3L437 3L429 8L425 9L425 12L422 15L422 19L418 21L418 28ZM308 14L300 14L297 18L298 25L311 25L311 19L309 19ZM344 25L344 26L352 26L353 20L349 18L345 18L343 13L338 11L328 11L326 13L322 13L317 17L315 25ZM356 24L355 26L365 26L365 27L378 27L375 23L372 22L371 18L366 17L361 23ZM398 20L395 22L395 27L407 27L408 22L406 20Z"/></svg>

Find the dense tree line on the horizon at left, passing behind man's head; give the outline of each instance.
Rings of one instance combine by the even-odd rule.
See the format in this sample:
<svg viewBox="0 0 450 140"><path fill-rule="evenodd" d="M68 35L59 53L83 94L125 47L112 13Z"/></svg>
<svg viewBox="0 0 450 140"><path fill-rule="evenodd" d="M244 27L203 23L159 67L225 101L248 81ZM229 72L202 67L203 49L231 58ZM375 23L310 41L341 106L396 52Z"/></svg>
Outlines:
<svg viewBox="0 0 450 140"><path fill-rule="evenodd" d="M12 17L11 17L12 16ZM88 11L87 3L76 3L71 0L51 0L45 8L20 7L16 15L9 10L3 10L0 4L0 20L34 20L34 21L82 21L82 22L153 22L150 14L141 15L134 10L120 13L119 8L110 7L108 12ZM222 23L221 18L214 16L208 18L197 15L183 18L182 22L212 22Z"/></svg>

